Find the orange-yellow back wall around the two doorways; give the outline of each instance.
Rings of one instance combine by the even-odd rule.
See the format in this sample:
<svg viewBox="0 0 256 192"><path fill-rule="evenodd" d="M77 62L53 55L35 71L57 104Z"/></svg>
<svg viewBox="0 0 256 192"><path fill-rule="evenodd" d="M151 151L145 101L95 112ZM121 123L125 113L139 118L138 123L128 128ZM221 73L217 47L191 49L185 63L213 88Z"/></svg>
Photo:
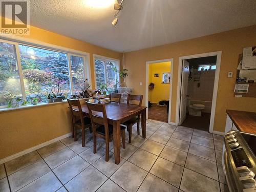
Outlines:
<svg viewBox="0 0 256 192"><path fill-rule="evenodd" d="M233 97L239 54L243 52L244 47L256 45L255 34L256 25L125 53L125 67L129 70L127 87L132 87L134 94L145 95L143 84L146 61L173 58L171 121L175 122L179 57L222 51L214 130L224 132L226 109L256 112L256 98ZM229 71L234 73L233 78L227 78ZM142 86L139 86L139 82L143 83Z"/></svg>

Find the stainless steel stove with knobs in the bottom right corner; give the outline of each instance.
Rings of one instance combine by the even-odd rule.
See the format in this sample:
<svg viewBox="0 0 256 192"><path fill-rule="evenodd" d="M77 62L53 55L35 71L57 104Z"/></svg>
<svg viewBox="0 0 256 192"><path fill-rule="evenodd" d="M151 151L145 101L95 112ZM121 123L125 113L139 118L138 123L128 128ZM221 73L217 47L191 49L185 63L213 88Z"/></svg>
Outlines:
<svg viewBox="0 0 256 192"><path fill-rule="evenodd" d="M224 139L223 168L230 192L256 192L256 135L229 131Z"/></svg>

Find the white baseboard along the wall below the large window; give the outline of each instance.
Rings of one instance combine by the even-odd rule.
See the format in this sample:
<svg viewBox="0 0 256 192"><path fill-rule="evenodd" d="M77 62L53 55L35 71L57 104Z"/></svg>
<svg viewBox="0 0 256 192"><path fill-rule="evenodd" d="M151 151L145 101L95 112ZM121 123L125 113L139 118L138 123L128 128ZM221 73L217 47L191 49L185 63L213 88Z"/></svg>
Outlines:
<svg viewBox="0 0 256 192"><path fill-rule="evenodd" d="M79 131L80 131L80 130L79 130ZM3 163L6 163L6 162L8 162L8 161L10 161L10 160L12 160L12 159L15 159L15 158L17 158L17 157L20 157L20 156L23 156L23 155L28 154L28 153L30 153L30 152L33 152L33 151L35 151L35 150L38 150L38 148L44 147L44 146L46 146L46 145L49 145L49 144L51 144L51 143L54 143L54 142L56 142L56 141L59 141L59 140L61 140L61 139L64 139L64 138L66 138L66 137L69 137L69 136L71 136L71 133L68 133L68 134L59 136L59 137L54 138L54 139L52 139L52 140L50 140L50 141L46 141L46 142L41 143L41 144L39 144L39 145L33 146L33 147L31 147L31 148L28 148L27 150L24 150L24 151L19 152L19 153L16 153L16 154L13 154L13 155L8 156L8 157L6 157L6 158L4 158L4 159L0 159L0 165L3 164Z"/></svg>

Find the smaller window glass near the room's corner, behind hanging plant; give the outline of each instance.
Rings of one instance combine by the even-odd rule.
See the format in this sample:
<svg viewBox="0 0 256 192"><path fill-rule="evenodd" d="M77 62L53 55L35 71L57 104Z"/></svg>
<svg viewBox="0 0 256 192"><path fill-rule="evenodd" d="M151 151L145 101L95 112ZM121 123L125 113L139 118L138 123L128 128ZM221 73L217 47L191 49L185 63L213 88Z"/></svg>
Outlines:
<svg viewBox="0 0 256 192"><path fill-rule="evenodd" d="M104 58L95 58L95 75L96 75L96 87L100 89L102 83L106 83L108 90L114 90L115 84L118 81L117 72L114 69L118 70L117 61L104 59Z"/></svg>

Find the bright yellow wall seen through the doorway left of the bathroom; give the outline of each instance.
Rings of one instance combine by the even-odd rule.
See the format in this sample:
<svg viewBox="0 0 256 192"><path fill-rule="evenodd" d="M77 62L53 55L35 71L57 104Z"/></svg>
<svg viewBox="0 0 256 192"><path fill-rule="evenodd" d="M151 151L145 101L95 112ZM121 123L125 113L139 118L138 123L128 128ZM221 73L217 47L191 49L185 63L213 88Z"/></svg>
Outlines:
<svg viewBox="0 0 256 192"><path fill-rule="evenodd" d="M162 83L162 74L170 72L170 61L151 63L148 66L148 84L155 83L154 89L148 91L148 100L152 103L158 103L161 100L169 99L170 84ZM159 77L154 77L158 73Z"/></svg>

